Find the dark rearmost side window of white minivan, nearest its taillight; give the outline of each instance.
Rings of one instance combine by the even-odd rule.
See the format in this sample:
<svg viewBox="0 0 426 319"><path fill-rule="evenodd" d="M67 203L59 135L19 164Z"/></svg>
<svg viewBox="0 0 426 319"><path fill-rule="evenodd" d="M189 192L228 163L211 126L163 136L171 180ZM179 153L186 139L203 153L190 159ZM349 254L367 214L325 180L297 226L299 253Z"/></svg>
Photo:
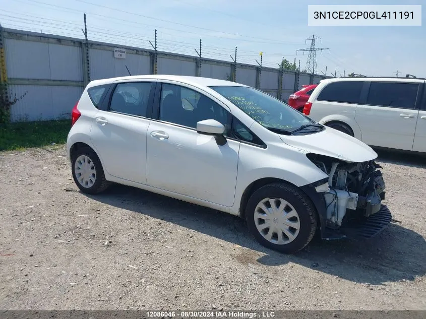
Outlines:
<svg viewBox="0 0 426 319"><path fill-rule="evenodd" d="M363 81L341 81L328 84L320 93L318 101L358 103Z"/></svg>

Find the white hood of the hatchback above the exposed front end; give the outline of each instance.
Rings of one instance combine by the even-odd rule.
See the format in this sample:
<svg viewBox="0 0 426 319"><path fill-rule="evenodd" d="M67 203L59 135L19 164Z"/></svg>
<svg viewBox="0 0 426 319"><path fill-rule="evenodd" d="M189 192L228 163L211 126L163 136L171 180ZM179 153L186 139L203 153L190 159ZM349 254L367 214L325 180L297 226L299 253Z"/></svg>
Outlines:
<svg viewBox="0 0 426 319"><path fill-rule="evenodd" d="M280 135L281 140L308 153L334 157L347 162L366 162L377 158L377 153L367 144L331 127L307 135Z"/></svg>

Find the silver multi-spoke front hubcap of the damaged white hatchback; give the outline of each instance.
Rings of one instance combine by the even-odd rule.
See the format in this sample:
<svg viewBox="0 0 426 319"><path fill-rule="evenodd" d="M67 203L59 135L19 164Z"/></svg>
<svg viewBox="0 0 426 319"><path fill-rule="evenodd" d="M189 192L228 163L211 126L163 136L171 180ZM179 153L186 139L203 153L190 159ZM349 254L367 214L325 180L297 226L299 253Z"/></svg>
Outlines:
<svg viewBox="0 0 426 319"><path fill-rule="evenodd" d="M255 209L255 224L266 240L279 245L296 239L300 229L296 210L281 198L265 198L260 201Z"/></svg>

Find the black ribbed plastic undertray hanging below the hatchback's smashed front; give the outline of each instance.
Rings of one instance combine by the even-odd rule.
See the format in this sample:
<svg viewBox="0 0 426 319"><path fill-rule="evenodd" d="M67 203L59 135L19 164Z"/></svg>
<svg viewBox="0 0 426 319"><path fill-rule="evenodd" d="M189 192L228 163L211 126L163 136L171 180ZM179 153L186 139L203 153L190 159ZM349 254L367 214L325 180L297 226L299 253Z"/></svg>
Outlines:
<svg viewBox="0 0 426 319"><path fill-rule="evenodd" d="M322 236L323 239L347 238L360 240L371 238L383 231L392 220L392 214L385 205L381 205L380 210L369 217L359 215L348 215L346 217L347 219L339 229L327 228Z"/></svg>

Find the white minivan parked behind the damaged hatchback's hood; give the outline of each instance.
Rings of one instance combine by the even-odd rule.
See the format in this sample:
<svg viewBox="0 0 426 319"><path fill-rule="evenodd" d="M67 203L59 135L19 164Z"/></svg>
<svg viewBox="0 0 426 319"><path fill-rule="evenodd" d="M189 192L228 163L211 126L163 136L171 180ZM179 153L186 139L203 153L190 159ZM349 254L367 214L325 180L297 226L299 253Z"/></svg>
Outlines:
<svg viewBox="0 0 426 319"><path fill-rule="evenodd" d="M371 146L426 152L424 79L323 80L303 113Z"/></svg>

